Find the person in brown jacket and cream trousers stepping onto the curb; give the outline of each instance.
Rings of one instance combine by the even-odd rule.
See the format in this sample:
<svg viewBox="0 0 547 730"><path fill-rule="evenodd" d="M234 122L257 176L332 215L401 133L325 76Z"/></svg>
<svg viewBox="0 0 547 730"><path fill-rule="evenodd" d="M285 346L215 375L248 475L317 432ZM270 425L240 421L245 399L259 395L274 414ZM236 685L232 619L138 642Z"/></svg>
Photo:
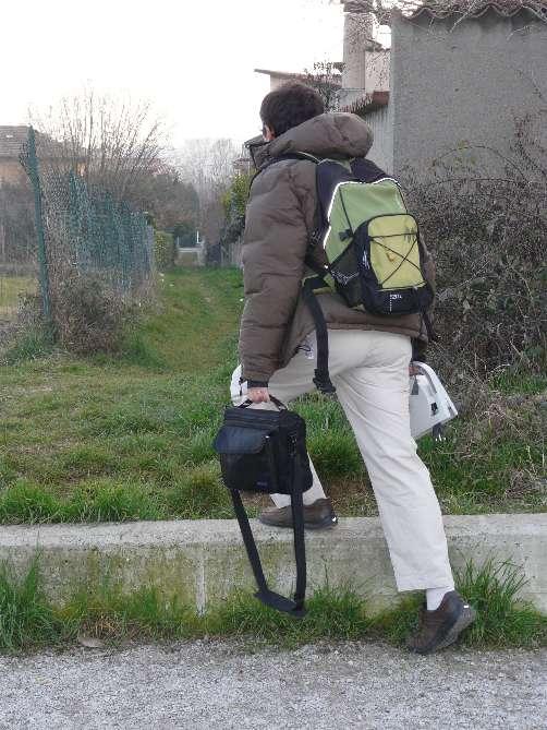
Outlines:
<svg viewBox="0 0 547 730"><path fill-rule="evenodd" d="M259 173L245 217L239 351L247 397L256 407L270 407L270 394L287 404L314 390L317 355L314 320L302 298L317 204L316 165L276 158L291 153L363 158L373 136L355 115L326 113L319 94L297 82L270 92L260 118L263 139L250 145ZM430 256L426 275L433 279ZM418 314L373 315L350 309L335 292L318 300L329 331L332 383L370 478L398 590L425 590L409 648L429 654L457 641L475 613L454 590L439 503L411 435L409 364L413 346L423 349L427 333ZM333 527L336 513L313 465L312 471L305 526ZM290 498L272 498L276 506L260 520L292 527Z"/></svg>

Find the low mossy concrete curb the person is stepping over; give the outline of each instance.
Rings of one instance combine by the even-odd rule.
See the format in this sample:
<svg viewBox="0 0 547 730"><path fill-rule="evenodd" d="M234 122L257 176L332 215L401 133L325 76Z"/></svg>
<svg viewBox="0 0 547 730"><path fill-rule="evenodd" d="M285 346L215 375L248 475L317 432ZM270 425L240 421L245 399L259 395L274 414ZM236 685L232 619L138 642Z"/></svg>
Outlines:
<svg viewBox="0 0 547 730"><path fill-rule="evenodd" d="M547 514L447 516L454 567L470 558L522 566L522 598L547 613ZM289 593L294 582L292 532L253 522L271 587ZM311 591L326 582L350 586L372 610L390 603L396 585L379 519L341 519L329 531L307 532ZM232 519L3 526L0 561L22 577L37 551L48 598L62 605L76 587L96 590L107 578L123 590L156 586L174 591L199 612L235 588L254 588L238 524Z"/></svg>

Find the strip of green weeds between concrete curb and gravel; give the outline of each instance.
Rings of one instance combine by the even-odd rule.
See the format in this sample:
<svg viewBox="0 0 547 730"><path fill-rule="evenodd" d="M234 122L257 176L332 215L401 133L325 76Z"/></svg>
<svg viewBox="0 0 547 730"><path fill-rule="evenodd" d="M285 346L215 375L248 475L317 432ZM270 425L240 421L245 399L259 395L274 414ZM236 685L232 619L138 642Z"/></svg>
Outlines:
<svg viewBox="0 0 547 730"><path fill-rule="evenodd" d="M519 567L507 562L465 565L457 587L478 614L462 636L465 646L547 646L547 617L518 599L524 583ZM197 615L177 595L166 597L154 587L127 594L107 582L93 595L78 590L63 607L56 607L40 589L36 560L22 583L5 567L0 571L0 651L66 646L82 635L113 645L205 636L238 636L285 648L318 639L381 638L400 645L415 627L421 602L421 597L410 596L390 611L369 615L366 602L350 587L326 586L309 597L302 620L272 611L244 593Z"/></svg>

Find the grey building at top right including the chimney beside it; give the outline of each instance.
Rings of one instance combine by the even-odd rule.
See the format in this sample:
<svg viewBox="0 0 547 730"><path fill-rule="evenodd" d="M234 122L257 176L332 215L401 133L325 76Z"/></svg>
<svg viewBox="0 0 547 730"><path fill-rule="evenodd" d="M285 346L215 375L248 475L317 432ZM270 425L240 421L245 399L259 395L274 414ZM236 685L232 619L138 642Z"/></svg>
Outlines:
<svg viewBox="0 0 547 730"><path fill-rule="evenodd" d="M459 151L499 172L515 119L547 106L547 2L426 0L410 15L396 13L391 50L379 51L389 74L380 79L367 70L372 19L358 0L343 4L342 105L373 128L370 157L396 175L410 167L427 175Z"/></svg>

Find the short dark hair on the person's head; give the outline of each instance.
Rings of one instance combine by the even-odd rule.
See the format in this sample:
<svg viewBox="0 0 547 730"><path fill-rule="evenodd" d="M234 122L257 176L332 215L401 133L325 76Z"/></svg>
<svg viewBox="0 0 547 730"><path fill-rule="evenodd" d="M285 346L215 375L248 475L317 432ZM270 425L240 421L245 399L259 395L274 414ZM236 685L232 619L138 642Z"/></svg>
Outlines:
<svg viewBox="0 0 547 730"><path fill-rule="evenodd" d="M264 97L260 119L279 136L324 111L325 104L315 88L291 81Z"/></svg>

